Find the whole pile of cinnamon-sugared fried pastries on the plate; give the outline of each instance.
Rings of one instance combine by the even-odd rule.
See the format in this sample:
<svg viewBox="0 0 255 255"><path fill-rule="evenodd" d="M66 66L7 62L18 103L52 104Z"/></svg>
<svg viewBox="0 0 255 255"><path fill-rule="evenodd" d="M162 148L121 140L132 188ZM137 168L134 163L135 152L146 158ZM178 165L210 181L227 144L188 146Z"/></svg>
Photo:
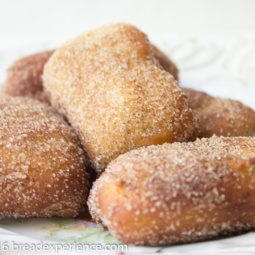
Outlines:
<svg viewBox="0 0 255 255"><path fill-rule="evenodd" d="M181 88L143 32L104 26L9 68L0 216L75 217L88 204L120 241L149 246L250 230L254 136L253 109Z"/></svg>

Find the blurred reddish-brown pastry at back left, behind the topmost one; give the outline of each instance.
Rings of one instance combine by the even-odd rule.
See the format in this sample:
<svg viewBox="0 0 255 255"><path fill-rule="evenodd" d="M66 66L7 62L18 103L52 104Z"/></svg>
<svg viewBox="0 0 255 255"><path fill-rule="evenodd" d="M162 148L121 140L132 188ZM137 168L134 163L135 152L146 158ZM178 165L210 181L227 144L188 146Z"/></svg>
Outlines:
<svg viewBox="0 0 255 255"><path fill-rule="evenodd" d="M2 92L10 96L27 96L48 102L43 93L42 73L53 51L45 51L15 61L7 71Z"/></svg>

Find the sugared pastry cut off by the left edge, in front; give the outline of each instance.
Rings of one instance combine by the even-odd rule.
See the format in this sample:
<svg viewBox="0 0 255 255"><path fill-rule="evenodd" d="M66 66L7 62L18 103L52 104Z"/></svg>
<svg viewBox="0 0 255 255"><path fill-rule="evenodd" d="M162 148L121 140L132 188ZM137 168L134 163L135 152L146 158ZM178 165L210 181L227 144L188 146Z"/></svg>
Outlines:
<svg viewBox="0 0 255 255"><path fill-rule="evenodd" d="M50 106L0 99L0 216L74 217L86 200L83 150Z"/></svg>

